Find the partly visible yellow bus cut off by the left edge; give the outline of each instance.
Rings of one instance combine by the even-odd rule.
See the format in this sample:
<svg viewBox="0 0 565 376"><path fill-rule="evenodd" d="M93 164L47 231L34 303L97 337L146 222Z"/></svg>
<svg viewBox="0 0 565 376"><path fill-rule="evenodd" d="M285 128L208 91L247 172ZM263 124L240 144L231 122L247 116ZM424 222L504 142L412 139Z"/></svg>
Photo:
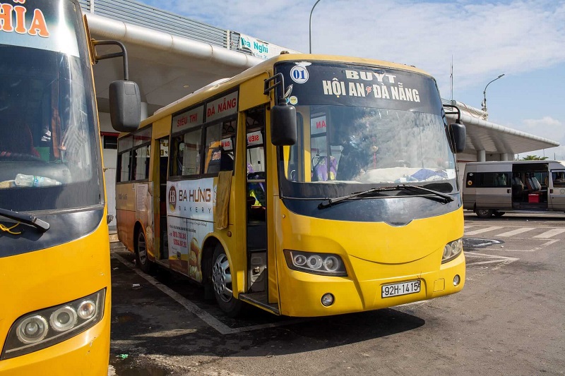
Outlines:
<svg viewBox="0 0 565 376"><path fill-rule="evenodd" d="M92 71L107 57L95 59L78 1L0 4L3 376L107 375L109 236ZM139 95L125 87L136 92L125 80L110 86L112 118L133 131Z"/></svg>

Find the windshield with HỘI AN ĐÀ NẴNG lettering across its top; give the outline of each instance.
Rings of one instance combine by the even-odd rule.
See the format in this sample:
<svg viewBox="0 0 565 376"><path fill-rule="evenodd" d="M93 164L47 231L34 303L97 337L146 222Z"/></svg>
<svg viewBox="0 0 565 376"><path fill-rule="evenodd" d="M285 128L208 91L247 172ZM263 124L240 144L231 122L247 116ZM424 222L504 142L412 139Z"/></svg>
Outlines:
<svg viewBox="0 0 565 376"><path fill-rule="evenodd" d="M432 78L306 64L280 69L289 72L289 101L298 117L297 143L283 149L280 163L283 195L332 198L403 183L456 190L455 159ZM307 70L307 82L292 78L295 66Z"/></svg>

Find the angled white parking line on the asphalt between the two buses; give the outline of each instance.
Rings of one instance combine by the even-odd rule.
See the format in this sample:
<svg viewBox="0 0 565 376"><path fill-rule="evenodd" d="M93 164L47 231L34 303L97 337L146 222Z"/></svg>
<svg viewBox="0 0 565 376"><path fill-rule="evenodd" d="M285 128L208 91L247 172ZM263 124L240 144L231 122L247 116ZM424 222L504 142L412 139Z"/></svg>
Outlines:
<svg viewBox="0 0 565 376"><path fill-rule="evenodd" d="M270 328L270 327L280 327L280 326L283 326L283 325L290 325L290 324L295 324L297 322L306 321L306 319L288 320L288 321L285 321L285 322L275 322L275 323L262 324L262 325L251 325L249 327L239 327L239 328L232 329L232 328L228 327L227 325L225 325L220 320L218 320L217 318L213 317L213 315L210 315L210 313L207 313L205 310L198 308L198 306L196 304L194 304L191 301L189 301L188 299L184 298L184 296L182 296L181 294L177 293L176 291L173 291L172 289L169 289L167 286L165 286L164 284L161 284L159 281L157 281L157 279L151 277L150 275L141 272L141 270L139 270L139 269L136 269L136 267L131 265L131 262L128 262L126 259L124 259L124 257L121 257L120 255L118 255L117 253L114 253L114 252L112 252L112 257L114 257L116 260L119 260L119 262L126 265L126 267L129 267L129 269L133 270L133 272L136 272L137 274L139 274L141 277L143 277L143 279L148 281L150 284L155 286L157 289L160 289L160 291L162 291L163 293L170 296L174 301L176 301L177 303L182 305L184 308L186 308L186 310L189 310L190 313L196 315L198 318L200 318L200 320L202 320L203 322L206 322L206 324L210 325L210 327L213 327L218 332L220 332L220 334L234 334L234 333L241 333L241 332L251 332L252 330L257 330L257 329L264 329L264 328Z"/></svg>

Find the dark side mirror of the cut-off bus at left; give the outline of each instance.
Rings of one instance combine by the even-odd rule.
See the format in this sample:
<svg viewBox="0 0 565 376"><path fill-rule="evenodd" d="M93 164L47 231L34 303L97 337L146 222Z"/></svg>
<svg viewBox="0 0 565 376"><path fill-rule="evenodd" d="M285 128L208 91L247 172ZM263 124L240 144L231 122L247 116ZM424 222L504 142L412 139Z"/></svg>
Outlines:
<svg viewBox="0 0 565 376"><path fill-rule="evenodd" d="M141 95L133 81L114 81L109 87L110 120L119 132L135 131L141 119Z"/></svg>

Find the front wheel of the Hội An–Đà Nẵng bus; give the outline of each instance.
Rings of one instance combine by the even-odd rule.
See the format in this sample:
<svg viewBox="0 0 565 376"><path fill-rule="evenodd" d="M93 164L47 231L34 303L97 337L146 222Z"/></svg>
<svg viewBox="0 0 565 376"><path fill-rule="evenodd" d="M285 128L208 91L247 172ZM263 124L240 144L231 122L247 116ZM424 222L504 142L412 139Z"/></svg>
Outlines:
<svg viewBox="0 0 565 376"><path fill-rule="evenodd" d="M212 285L216 301L226 315L236 317L242 311L244 303L234 298L232 272L222 245L216 245L212 260Z"/></svg>

